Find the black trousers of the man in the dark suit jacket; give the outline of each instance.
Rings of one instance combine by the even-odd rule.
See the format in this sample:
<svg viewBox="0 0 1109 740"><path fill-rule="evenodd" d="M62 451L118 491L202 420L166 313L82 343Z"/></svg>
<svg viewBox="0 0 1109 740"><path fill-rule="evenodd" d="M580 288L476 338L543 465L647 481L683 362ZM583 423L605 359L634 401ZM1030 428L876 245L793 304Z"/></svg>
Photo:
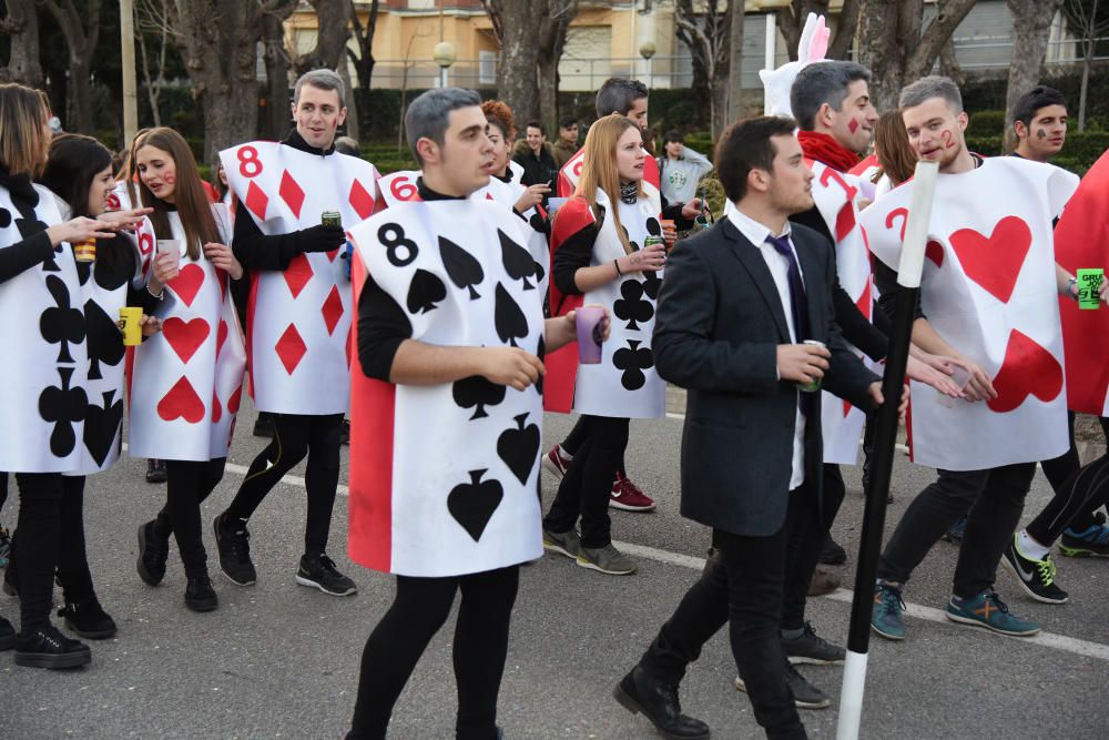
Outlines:
<svg viewBox="0 0 1109 740"><path fill-rule="evenodd" d="M713 530L714 555L640 659L644 671L676 686L701 648L725 624L732 656L746 685L755 719L767 738L805 738L786 683L779 636L788 536Z"/></svg>

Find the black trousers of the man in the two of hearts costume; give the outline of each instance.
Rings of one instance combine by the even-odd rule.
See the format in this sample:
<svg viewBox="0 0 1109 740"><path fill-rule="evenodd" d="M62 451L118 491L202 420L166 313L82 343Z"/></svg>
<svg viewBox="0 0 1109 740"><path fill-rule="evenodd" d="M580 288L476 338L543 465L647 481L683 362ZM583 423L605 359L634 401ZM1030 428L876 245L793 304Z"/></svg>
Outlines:
<svg viewBox="0 0 1109 740"><path fill-rule="evenodd" d="M1035 463L989 470L938 470L913 499L878 560L878 578L905 582L940 536L969 509L953 592L977 596L994 585L997 564L1020 521Z"/></svg>

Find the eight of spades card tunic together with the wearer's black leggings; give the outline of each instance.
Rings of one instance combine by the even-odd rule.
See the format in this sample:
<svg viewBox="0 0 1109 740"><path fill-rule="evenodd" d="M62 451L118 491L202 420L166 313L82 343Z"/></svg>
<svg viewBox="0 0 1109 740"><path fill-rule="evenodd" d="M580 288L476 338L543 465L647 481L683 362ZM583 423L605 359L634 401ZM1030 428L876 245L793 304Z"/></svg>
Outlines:
<svg viewBox="0 0 1109 740"><path fill-rule="evenodd" d="M479 375L405 385L390 374L408 339L512 346L541 358L542 296L510 256L526 252L526 224L502 204L417 183L419 201L352 232L358 365L349 553L396 574L397 595L366 642L348 737L385 737L457 591L457 737L494 737L518 565L542 555L542 386L518 391Z"/></svg>

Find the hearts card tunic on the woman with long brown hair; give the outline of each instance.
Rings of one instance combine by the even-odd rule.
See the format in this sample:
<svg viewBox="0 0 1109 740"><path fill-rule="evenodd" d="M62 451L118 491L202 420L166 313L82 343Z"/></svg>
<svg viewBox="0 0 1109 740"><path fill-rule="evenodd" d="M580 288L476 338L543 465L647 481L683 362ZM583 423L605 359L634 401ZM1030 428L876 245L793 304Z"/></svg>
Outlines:
<svg viewBox="0 0 1109 740"><path fill-rule="evenodd" d="M212 213L230 242L223 204ZM190 259L181 219L176 211L167 216L181 244L181 272L154 311L162 331L135 351L129 450L134 457L211 460L226 457L231 446L246 353L227 274L203 251Z"/></svg>

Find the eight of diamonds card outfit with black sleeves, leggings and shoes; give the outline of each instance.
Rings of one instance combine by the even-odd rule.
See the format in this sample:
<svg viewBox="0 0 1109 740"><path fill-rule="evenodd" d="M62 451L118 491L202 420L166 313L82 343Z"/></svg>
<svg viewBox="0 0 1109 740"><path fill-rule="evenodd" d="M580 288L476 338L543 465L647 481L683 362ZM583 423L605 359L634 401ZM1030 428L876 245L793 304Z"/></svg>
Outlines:
<svg viewBox="0 0 1109 740"><path fill-rule="evenodd" d="M297 463L308 458L305 558L297 582L354 594L326 556L339 473L339 433L350 394L350 284L338 259L343 230L321 223L338 212L345 227L374 213L377 170L334 146L311 146L294 130L282 143L251 142L220 154L241 204L235 256L252 275L247 366L258 410L271 412L273 442L254 459L238 494L216 518L224 572L256 579L246 520ZM306 570L307 568L307 570ZM308 570L334 581L322 585Z"/></svg>

